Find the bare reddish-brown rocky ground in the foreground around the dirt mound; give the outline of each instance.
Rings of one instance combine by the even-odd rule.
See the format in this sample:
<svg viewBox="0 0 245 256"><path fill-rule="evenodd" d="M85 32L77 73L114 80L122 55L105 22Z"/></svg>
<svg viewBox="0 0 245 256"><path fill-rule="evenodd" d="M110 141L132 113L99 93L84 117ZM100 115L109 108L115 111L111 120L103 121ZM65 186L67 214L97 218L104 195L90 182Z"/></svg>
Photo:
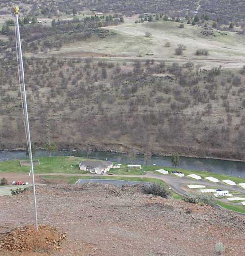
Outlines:
<svg viewBox="0 0 245 256"><path fill-rule="evenodd" d="M37 200L40 223L66 239L51 251L0 246L0 256L215 256L219 241L222 255L245 255L245 216L144 195L137 186L45 185ZM0 237L33 217L32 190L0 197Z"/></svg>

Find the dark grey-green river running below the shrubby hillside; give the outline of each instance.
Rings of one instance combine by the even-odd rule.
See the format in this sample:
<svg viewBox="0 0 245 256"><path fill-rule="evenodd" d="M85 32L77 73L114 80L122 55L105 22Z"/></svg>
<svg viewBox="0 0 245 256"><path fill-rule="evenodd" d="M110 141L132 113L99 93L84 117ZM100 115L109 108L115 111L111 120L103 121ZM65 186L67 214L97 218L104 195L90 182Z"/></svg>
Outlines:
<svg viewBox="0 0 245 256"><path fill-rule="evenodd" d="M87 153L85 151L59 150L57 152L52 153L52 155L86 157ZM35 157L42 156L48 156L48 152L45 150L37 150ZM25 151L23 150L0 151L0 161L10 159L23 159L25 157ZM114 161L119 163L130 163L129 156L127 154L109 152L90 152L88 157ZM144 156L137 155L133 161L133 164L144 164ZM148 161L147 164L172 167L171 157L169 156L153 156ZM227 161L220 159L180 157L180 165L178 167L190 170L210 171L245 178L245 162Z"/></svg>

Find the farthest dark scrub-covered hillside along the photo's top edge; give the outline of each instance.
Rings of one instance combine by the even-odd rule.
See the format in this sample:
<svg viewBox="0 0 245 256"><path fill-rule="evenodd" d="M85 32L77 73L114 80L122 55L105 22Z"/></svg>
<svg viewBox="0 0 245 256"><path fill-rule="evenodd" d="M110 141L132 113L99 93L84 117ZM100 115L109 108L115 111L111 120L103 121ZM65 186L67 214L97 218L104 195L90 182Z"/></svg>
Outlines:
<svg viewBox="0 0 245 256"><path fill-rule="evenodd" d="M245 20L243 1L238 0L0 0L1 14L7 14L12 4L19 4L21 10L32 15L67 15L76 12L96 10L99 12L119 11L123 15L131 16L141 13L165 13L170 16L208 14L212 19L219 19L223 24Z"/></svg>

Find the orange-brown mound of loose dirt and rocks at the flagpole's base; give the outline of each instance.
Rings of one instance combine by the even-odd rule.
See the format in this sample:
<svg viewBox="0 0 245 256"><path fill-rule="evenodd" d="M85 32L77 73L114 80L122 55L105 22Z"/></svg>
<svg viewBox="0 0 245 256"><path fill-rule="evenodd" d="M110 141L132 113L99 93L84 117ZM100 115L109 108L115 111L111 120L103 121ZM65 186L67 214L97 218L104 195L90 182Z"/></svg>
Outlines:
<svg viewBox="0 0 245 256"><path fill-rule="evenodd" d="M0 237L0 248L19 252L26 250L45 252L59 248L65 237L65 234L53 227L39 225L37 231L34 225L30 225L15 228L11 232L3 234Z"/></svg>

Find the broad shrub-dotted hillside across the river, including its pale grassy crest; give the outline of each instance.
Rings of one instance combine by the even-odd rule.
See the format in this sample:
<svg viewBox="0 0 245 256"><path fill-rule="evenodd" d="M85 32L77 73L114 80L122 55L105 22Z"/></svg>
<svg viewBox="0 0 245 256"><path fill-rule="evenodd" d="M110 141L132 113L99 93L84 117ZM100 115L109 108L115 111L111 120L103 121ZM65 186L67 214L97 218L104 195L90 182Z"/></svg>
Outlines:
<svg viewBox="0 0 245 256"><path fill-rule="evenodd" d="M36 146L244 159L245 35L107 14L20 21ZM4 36L0 148L25 147L12 25Z"/></svg>

